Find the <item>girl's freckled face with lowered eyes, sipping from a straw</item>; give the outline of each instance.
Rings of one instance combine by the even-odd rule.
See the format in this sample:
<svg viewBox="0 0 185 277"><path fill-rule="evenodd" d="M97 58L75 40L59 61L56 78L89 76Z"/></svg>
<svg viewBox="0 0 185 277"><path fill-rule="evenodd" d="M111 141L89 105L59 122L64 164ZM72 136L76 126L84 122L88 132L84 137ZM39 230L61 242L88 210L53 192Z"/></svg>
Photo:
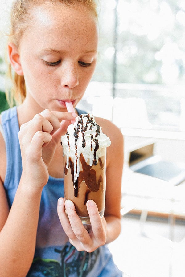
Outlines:
<svg viewBox="0 0 185 277"><path fill-rule="evenodd" d="M65 101L80 101L97 60L97 19L84 6L45 4L19 45L20 62L31 108L63 111Z"/></svg>

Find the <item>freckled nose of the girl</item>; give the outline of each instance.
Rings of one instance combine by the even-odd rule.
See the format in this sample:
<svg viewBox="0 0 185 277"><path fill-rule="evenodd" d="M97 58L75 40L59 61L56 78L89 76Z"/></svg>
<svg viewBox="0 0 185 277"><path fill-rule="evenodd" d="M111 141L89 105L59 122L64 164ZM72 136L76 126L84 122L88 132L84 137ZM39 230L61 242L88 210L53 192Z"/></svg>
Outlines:
<svg viewBox="0 0 185 277"><path fill-rule="evenodd" d="M61 85L75 88L79 84L78 69L73 63L66 63L61 76Z"/></svg>

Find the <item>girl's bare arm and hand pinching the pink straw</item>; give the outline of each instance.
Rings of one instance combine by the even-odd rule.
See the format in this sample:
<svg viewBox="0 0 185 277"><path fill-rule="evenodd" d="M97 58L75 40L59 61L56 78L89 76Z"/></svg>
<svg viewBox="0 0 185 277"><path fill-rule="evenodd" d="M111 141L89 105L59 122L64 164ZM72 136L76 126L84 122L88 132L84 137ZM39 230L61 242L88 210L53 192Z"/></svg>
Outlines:
<svg viewBox="0 0 185 277"><path fill-rule="evenodd" d="M74 119L68 113L52 115L44 111L21 127L23 173L10 211L3 187L5 143L0 136L0 276L26 276L33 261L40 198L48 180L48 165L63 132L61 118Z"/></svg>

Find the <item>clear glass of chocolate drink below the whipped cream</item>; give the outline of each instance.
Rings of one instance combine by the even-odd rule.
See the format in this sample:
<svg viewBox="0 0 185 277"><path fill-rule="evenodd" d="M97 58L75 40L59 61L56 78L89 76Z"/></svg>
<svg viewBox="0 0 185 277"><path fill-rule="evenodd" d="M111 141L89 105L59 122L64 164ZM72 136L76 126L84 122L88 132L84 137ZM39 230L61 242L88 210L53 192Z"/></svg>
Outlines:
<svg viewBox="0 0 185 277"><path fill-rule="evenodd" d="M83 154L80 155L80 173L74 185L74 165L75 161L69 157L67 163L64 155L64 200L70 199L76 209L84 226L90 224L90 218L87 211L86 203L92 199L98 207L101 217L105 210L105 170L106 170L106 148L103 148L102 156L99 157L96 165L89 165L89 160L85 161ZM68 164L68 168L67 168ZM87 226L86 226L87 227Z"/></svg>

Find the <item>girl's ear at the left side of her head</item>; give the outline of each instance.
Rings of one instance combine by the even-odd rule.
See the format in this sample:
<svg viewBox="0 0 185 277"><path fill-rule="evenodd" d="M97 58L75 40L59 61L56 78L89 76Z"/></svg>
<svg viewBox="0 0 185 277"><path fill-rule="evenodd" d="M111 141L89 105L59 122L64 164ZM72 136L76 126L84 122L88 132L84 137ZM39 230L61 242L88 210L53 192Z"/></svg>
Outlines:
<svg viewBox="0 0 185 277"><path fill-rule="evenodd" d="M14 71L23 76L23 69L20 63L19 51L14 43L8 44L8 55L10 59L11 66L14 68Z"/></svg>

